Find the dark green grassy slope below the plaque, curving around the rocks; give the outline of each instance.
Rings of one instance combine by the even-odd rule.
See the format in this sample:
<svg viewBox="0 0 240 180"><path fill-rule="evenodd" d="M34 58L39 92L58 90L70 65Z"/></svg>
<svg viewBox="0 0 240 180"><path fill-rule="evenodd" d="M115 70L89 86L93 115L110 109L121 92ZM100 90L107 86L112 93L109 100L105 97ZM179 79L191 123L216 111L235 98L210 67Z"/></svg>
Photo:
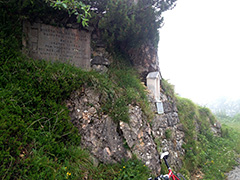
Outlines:
<svg viewBox="0 0 240 180"><path fill-rule="evenodd" d="M123 90L120 88L123 86L111 82L108 75L84 72L61 63L34 61L26 59L21 54L9 55L9 58L5 57L1 61L0 74L2 177L79 179L88 174L90 179L100 177L114 179L127 174L128 172L124 171L122 174L118 173L122 166L120 164L100 165L98 168L93 166L88 153L78 146L80 136L70 123L68 110L62 102L75 89L91 86L103 94L112 95L105 99L106 103L103 102L103 111L108 109L110 115L117 117L118 120L127 121L126 103L133 98L135 101L139 99L136 103L144 99L142 97L140 100L143 89L142 91L138 89L141 85L136 81L136 77L130 76L132 78L129 81L134 82L133 86L125 86ZM129 73L125 71L126 77L129 77ZM119 83L123 82L120 80ZM116 89L119 98L114 94ZM132 98L127 98L131 96L128 91L138 93ZM114 112L122 112L124 115L120 116ZM138 173L138 176L148 176L148 170L140 162L136 160L131 162L133 164L129 165L128 171L134 174L133 172L139 171L140 168L139 172L143 173Z"/></svg>

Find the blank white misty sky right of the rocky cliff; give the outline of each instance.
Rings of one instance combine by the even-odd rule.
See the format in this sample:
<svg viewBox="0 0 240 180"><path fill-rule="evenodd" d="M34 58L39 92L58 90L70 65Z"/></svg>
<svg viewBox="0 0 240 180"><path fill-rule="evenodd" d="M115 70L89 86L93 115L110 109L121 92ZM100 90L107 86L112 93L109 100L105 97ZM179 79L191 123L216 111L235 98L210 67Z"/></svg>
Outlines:
<svg viewBox="0 0 240 180"><path fill-rule="evenodd" d="M202 105L240 98L240 0L178 0L163 16L160 69L175 91Z"/></svg>

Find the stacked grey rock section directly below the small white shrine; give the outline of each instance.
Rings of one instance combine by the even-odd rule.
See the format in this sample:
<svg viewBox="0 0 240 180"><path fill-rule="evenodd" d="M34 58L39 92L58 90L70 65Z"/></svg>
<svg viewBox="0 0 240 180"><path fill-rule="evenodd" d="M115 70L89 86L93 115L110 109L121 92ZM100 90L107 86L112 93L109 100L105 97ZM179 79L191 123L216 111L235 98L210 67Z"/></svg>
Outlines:
<svg viewBox="0 0 240 180"><path fill-rule="evenodd" d="M164 114L156 114L152 120L152 135L158 144L159 153L169 151L169 164L179 169L182 166L181 156L185 151L183 125L180 123L175 100L161 92ZM154 107L152 107L154 108Z"/></svg>

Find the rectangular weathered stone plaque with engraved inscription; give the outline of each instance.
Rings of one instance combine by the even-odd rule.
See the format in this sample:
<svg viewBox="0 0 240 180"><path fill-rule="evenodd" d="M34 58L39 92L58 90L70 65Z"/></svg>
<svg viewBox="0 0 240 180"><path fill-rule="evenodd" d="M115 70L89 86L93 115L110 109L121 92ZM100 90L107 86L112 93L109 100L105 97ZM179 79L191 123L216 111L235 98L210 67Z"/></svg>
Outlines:
<svg viewBox="0 0 240 180"><path fill-rule="evenodd" d="M29 22L23 23L24 51L32 58L69 62L90 69L90 32Z"/></svg>

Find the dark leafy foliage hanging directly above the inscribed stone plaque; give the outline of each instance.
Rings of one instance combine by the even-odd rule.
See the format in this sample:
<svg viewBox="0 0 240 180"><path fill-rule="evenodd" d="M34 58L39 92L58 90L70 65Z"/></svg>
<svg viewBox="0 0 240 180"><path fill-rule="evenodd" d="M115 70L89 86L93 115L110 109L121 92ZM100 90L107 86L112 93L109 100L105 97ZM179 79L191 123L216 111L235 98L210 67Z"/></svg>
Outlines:
<svg viewBox="0 0 240 180"><path fill-rule="evenodd" d="M59 26L74 22L87 26L90 17L90 6L75 0L10 0L0 6L10 18Z"/></svg>

